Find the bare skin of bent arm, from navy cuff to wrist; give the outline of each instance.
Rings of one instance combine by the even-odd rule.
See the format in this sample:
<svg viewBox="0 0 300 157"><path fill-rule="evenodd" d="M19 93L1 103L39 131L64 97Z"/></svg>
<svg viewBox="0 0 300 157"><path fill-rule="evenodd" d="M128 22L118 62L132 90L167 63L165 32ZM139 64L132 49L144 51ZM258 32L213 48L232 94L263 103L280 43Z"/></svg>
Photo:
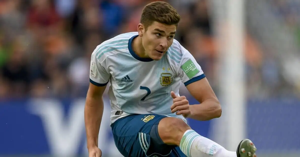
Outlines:
<svg viewBox="0 0 300 157"><path fill-rule="evenodd" d="M221 116L221 105L206 77L186 87L190 94L200 102L200 104L190 105L191 114L188 118L207 121Z"/></svg>

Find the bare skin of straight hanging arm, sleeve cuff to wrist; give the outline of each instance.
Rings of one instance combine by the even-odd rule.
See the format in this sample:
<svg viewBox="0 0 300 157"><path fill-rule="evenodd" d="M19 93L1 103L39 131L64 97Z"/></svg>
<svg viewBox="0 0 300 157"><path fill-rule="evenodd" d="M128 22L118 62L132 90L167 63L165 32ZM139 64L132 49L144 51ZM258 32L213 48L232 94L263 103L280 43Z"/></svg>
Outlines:
<svg viewBox="0 0 300 157"><path fill-rule="evenodd" d="M98 147L98 134L103 115L103 93L106 86L90 83L84 108L85 130L88 149Z"/></svg>

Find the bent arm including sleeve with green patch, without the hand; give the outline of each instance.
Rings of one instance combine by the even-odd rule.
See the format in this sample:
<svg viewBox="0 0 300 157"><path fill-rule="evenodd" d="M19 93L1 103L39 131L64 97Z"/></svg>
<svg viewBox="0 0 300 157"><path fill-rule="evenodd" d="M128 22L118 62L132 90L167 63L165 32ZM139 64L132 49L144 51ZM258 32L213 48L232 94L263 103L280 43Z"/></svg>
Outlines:
<svg viewBox="0 0 300 157"><path fill-rule="evenodd" d="M173 48L182 54L179 65L174 64L176 65L174 69L177 69L176 74L181 78L190 94L201 103L190 105L190 114L187 117L200 121L220 117L222 109L219 100L211 89L200 65L179 42L175 42L174 45Z"/></svg>

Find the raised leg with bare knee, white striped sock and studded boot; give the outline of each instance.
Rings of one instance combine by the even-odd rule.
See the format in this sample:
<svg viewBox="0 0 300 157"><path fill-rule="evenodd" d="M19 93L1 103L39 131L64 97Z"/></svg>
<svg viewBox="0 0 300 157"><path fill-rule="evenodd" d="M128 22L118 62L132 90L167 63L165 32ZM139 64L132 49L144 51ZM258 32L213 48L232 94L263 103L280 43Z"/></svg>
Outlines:
<svg viewBox="0 0 300 157"><path fill-rule="evenodd" d="M158 124L158 134L165 144L179 146L187 157L256 157L256 148L250 140L242 140L237 152L228 151L178 118L163 118Z"/></svg>

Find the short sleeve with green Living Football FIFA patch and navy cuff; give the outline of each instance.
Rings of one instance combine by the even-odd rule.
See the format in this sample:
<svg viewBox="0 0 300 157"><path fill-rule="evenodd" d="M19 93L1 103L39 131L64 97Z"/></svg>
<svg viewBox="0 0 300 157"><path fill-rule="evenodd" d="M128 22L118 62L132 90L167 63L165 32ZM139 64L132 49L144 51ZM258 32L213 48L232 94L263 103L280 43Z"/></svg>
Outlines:
<svg viewBox="0 0 300 157"><path fill-rule="evenodd" d="M196 62L195 58L183 46L180 47L182 58L178 66L177 73L181 78L182 83L184 83L184 86L205 78L205 74L203 73L200 65Z"/></svg>

